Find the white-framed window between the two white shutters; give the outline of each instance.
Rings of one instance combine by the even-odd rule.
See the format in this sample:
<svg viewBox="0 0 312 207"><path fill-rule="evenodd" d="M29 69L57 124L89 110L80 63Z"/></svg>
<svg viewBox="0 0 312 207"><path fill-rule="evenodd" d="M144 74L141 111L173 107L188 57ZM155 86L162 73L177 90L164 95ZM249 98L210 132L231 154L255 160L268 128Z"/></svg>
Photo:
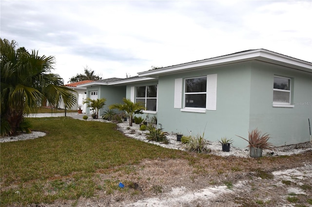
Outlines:
<svg viewBox="0 0 312 207"><path fill-rule="evenodd" d="M185 79L185 107L206 108L207 77Z"/></svg>

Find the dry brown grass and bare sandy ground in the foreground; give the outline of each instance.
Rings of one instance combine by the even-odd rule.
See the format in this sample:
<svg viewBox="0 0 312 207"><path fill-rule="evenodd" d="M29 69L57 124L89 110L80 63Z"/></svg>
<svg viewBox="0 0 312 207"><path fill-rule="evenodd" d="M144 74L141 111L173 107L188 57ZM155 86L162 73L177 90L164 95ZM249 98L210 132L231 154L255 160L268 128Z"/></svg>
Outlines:
<svg viewBox="0 0 312 207"><path fill-rule="evenodd" d="M105 180L127 180L124 189L99 191L93 199L81 198L78 207L293 207L312 206L312 152L274 160L198 158L201 166L183 159L145 160L129 166L132 173L99 173ZM235 163L232 165L231 163ZM240 165L242 164L242 165ZM220 165L218 168L216 165ZM249 167L248 167L249 166ZM262 178L261 178L262 177ZM310 199L310 200L309 200ZM58 201L55 206L71 206Z"/></svg>

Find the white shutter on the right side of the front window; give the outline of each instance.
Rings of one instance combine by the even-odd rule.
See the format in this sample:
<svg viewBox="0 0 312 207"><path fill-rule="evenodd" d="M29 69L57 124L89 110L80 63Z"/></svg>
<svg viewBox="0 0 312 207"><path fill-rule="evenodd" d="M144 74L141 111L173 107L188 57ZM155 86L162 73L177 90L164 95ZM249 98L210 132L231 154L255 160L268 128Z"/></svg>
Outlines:
<svg viewBox="0 0 312 207"><path fill-rule="evenodd" d="M216 74L207 75L206 109L216 110Z"/></svg>

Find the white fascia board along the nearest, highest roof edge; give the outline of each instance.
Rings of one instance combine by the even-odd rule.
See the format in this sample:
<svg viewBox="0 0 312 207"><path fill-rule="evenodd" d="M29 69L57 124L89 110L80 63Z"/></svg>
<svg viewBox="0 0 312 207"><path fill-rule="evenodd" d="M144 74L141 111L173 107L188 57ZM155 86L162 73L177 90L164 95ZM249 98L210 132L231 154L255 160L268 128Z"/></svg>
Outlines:
<svg viewBox="0 0 312 207"><path fill-rule="evenodd" d="M286 55L278 54L275 52L270 52L263 49L253 50L253 51L246 51L246 52L239 52L234 54L229 54L225 56L214 57L205 60L199 60L195 62L169 66L163 69L156 69L156 70L149 70L138 72L138 76L147 76L147 77L157 77L158 75L162 74L170 74L175 73L177 71L187 71L191 69L200 69L206 67L213 67L213 66L220 66L230 63L238 63L244 62L249 60L265 60L265 62L272 62L276 64L279 62L279 65L285 65L287 67L293 66L295 69L301 69L304 71L312 72L312 63L302 61L296 58L292 58Z"/></svg>

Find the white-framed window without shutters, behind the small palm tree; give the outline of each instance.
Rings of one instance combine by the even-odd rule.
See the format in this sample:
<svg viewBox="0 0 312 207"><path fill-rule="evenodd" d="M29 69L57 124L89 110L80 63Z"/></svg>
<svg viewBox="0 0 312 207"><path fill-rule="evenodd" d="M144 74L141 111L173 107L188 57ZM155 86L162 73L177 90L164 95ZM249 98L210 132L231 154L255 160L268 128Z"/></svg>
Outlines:
<svg viewBox="0 0 312 207"><path fill-rule="evenodd" d="M157 106L157 86L138 86L136 102L144 103L147 111L156 111Z"/></svg>

